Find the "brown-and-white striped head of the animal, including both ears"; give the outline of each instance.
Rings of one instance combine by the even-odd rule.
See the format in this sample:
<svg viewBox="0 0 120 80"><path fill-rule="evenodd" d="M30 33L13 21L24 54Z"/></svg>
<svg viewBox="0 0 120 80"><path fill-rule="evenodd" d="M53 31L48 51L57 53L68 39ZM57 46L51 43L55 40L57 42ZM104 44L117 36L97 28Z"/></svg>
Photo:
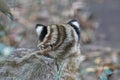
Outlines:
<svg viewBox="0 0 120 80"><path fill-rule="evenodd" d="M65 24L36 25L38 48L42 55L57 59L80 53L80 25L77 20Z"/></svg>

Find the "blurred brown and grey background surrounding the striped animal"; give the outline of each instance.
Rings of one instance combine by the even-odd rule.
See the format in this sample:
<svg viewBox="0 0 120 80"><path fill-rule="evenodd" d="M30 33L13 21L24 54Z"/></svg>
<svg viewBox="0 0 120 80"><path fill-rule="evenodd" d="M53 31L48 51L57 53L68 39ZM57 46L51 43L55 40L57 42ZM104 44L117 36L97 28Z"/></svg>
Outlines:
<svg viewBox="0 0 120 80"><path fill-rule="evenodd" d="M37 23L76 18L81 25L82 80L120 80L119 14L119 0L0 0L0 56L15 48L35 48Z"/></svg>

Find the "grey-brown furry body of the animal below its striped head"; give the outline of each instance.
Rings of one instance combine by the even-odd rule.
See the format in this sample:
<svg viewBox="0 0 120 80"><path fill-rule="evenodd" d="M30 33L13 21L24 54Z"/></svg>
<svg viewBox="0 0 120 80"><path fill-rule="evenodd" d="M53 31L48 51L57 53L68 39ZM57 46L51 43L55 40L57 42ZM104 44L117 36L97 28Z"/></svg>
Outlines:
<svg viewBox="0 0 120 80"><path fill-rule="evenodd" d="M30 56L31 54L35 54ZM1 57L0 80L78 80L80 55L58 62L30 49L19 49L7 58Z"/></svg>

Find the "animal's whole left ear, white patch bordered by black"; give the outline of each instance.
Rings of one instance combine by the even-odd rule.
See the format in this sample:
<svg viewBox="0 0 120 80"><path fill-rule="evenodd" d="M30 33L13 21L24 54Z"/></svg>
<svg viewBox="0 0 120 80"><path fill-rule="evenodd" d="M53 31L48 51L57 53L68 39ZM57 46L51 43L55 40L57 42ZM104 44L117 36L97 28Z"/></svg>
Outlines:
<svg viewBox="0 0 120 80"><path fill-rule="evenodd" d="M47 34L47 27L42 24L37 24L35 26L35 29L36 29L37 35L39 36L39 40L43 41L43 39L45 38L45 36Z"/></svg>

